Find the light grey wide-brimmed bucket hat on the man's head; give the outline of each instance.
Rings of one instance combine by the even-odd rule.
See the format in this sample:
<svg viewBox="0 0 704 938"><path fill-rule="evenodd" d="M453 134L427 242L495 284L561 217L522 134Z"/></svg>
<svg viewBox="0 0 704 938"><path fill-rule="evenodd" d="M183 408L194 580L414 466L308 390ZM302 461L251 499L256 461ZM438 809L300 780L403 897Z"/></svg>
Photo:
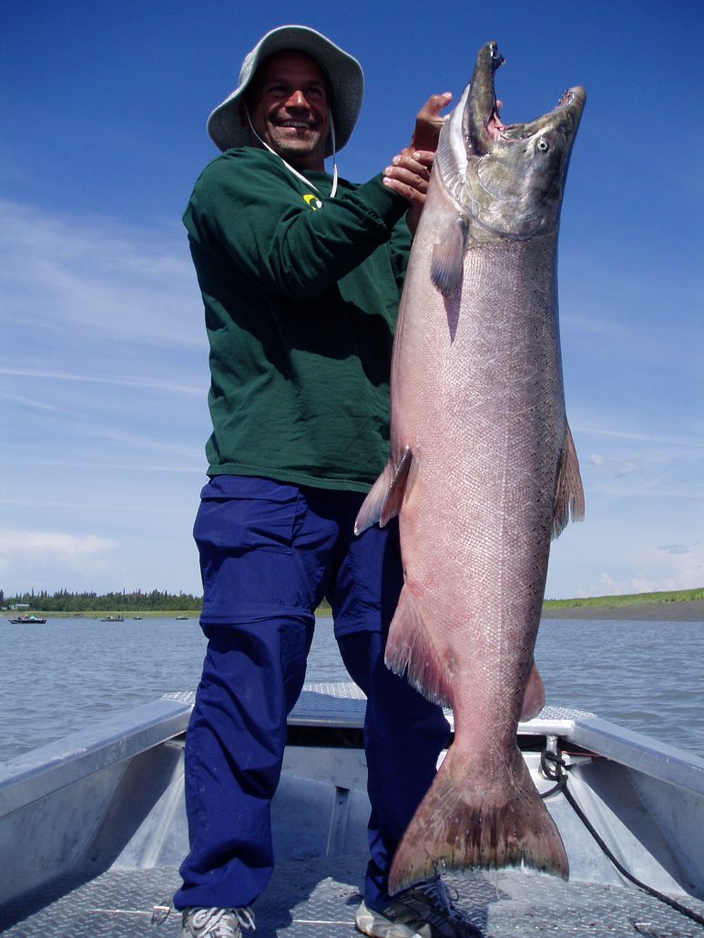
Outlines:
<svg viewBox="0 0 704 938"><path fill-rule="evenodd" d="M326 142L326 157L329 157L333 150L341 150L347 143L357 123L364 94L364 73L360 63L309 26L289 25L278 26L259 40L252 52L245 56L235 91L207 118L207 132L219 149L224 151L233 146L248 146L251 143L249 130L242 126L239 117L239 102L261 63L273 53L287 51L310 55L328 79L334 145L332 137L329 136Z"/></svg>

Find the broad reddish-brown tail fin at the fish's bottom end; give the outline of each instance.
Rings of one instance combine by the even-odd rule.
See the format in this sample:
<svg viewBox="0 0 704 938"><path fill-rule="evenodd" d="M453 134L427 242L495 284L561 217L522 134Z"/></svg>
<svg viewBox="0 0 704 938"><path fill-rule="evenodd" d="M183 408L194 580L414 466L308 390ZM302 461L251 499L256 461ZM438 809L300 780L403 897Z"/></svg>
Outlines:
<svg viewBox="0 0 704 938"><path fill-rule="evenodd" d="M460 763L460 760L456 760ZM452 748L393 857L390 895L443 870L497 869L525 864L567 879L569 864L555 822L516 748L503 779L460 788L464 766Z"/></svg>

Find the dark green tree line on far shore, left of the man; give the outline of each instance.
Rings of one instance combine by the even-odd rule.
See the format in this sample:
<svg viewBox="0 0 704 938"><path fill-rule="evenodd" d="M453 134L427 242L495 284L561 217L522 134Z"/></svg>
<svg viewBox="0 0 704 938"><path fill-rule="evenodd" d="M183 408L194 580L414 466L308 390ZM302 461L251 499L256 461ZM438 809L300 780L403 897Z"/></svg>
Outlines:
<svg viewBox="0 0 704 938"><path fill-rule="evenodd" d="M28 611L41 613L168 613L168 612L200 612L203 598L191 596L191 593L166 593L153 589L149 593L142 590L128 593L69 593L69 590L59 590L48 593L41 590L35 593L18 593L17 596L6 596L0 590L0 603L4 608L21 605ZM24 611L24 610L23 610Z"/></svg>

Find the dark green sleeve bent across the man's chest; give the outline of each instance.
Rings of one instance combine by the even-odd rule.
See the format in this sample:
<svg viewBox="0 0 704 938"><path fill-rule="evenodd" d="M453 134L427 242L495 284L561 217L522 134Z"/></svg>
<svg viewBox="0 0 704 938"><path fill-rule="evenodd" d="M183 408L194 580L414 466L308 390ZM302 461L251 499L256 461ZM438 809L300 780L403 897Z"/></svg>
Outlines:
<svg viewBox="0 0 704 938"><path fill-rule="evenodd" d="M184 223L201 250L236 265L269 293L312 298L390 241L407 203L381 179L341 187L313 210L303 198L305 184L278 157L230 150L201 175Z"/></svg>

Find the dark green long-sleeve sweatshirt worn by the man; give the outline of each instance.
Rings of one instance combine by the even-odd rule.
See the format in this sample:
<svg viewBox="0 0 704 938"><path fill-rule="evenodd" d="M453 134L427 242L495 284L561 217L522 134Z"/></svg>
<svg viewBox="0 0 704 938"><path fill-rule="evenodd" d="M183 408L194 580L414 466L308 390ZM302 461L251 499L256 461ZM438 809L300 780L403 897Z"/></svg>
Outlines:
<svg viewBox="0 0 704 938"><path fill-rule="evenodd" d="M407 203L381 176L333 199L328 174L305 176L228 150L184 215L210 342L207 472L364 492L388 458Z"/></svg>

